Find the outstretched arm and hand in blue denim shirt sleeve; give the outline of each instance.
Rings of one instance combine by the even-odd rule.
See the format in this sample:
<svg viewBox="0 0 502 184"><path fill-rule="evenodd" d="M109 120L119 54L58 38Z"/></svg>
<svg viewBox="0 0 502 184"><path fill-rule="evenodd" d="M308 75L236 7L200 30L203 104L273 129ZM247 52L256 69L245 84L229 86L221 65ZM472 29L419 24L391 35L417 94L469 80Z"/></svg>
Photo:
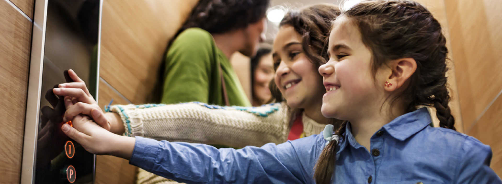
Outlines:
<svg viewBox="0 0 502 184"><path fill-rule="evenodd" d="M63 131L95 154L130 160L147 171L188 183L312 183L322 136L276 145L216 149L206 144L157 141L113 134L85 116ZM321 137L321 138L320 138Z"/></svg>

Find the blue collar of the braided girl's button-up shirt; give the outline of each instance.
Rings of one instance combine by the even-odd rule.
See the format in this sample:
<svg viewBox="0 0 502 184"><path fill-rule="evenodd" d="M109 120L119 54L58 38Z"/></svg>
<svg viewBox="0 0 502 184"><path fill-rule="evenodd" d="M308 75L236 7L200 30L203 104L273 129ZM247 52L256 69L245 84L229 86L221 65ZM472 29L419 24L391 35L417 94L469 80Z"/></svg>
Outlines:
<svg viewBox="0 0 502 184"><path fill-rule="evenodd" d="M427 108L420 108L416 111L397 117L390 123L384 125L380 130L385 129L391 136L403 141L424 129L426 126L431 124L431 122L431 116ZM344 134L343 140L340 143L340 149L337 153L340 153L348 144L354 148L361 146L355 140L354 135L352 135L350 122L347 122Z"/></svg>

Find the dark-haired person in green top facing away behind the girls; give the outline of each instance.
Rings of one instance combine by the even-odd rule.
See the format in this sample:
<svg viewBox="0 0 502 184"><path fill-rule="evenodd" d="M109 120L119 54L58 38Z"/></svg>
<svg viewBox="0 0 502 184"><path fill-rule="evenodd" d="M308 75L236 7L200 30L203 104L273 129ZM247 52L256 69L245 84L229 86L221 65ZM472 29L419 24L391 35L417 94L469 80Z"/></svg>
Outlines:
<svg viewBox="0 0 502 184"><path fill-rule="evenodd" d="M229 58L264 41L269 0L201 0L166 56L162 103L251 106Z"/></svg>

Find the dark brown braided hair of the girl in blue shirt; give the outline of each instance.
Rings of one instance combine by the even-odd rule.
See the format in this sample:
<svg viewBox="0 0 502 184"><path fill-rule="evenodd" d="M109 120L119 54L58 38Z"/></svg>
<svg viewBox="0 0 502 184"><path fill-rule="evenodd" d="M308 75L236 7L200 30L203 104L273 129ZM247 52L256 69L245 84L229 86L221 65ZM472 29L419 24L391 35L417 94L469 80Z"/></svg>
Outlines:
<svg viewBox="0 0 502 184"><path fill-rule="evenodd" d="M455 130L448 106L446 38L431 12L412 1L377 0L361 2L341 16L358 27L363 44L371 51L373 76L391 60L413 58L417 62L410 85L392 102L405 102L407 112L420 105L433 106L440 127ZM335 133L342 136L346 124L343 122ZM330 183L334 177L337 146L331 141L320 154L314 173L316 183Z"/></svg>

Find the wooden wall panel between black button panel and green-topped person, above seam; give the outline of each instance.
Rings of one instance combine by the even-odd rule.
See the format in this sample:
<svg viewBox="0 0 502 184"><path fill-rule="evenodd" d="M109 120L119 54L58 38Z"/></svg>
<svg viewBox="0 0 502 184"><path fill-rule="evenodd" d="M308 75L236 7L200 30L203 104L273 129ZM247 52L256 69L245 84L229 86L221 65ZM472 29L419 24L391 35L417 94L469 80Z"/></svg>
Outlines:
<svg viewBox="0 0 502 184"><path fill-rule="evenodd" d="M100 76L133 103L149 101L167 44L196 3L104 1Z"/></svg>

